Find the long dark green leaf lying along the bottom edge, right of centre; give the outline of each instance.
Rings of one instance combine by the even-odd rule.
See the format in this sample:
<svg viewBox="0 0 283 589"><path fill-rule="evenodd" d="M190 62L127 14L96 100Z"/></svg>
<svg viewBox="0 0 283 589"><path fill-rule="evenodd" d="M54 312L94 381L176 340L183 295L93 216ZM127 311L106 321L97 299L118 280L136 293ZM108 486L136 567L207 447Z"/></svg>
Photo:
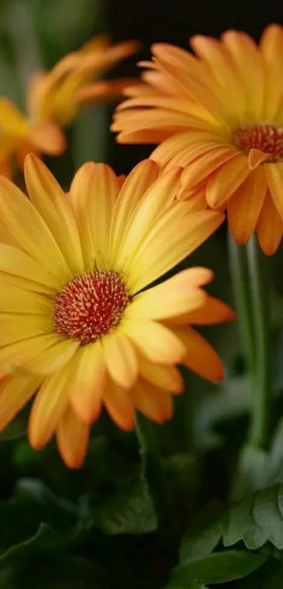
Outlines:
<svg viewBox="0 0 283 589"><path fill-rule="evenodd" d="M238 550L216 552L206 558L180 564L173 569L171 581L166 589L187 589L190 587L189 583L203 585L234 581L261 567L265 560L265 555L256 555L253 552Z"/></svg>

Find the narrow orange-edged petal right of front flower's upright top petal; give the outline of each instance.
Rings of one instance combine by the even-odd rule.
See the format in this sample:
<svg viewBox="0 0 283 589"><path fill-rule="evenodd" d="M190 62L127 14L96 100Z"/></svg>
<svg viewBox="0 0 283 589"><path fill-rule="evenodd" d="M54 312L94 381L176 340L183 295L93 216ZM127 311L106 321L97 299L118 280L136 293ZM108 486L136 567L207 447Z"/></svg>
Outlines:
<svg viewBox="0 0 283 589"><path fill-rule="evenodd" d="M117 258L117 253L121 249L133 212L157 176L157 164L145 160L140 162L125 180L112 216L110 231L110 259L112 261Z"/></svg>

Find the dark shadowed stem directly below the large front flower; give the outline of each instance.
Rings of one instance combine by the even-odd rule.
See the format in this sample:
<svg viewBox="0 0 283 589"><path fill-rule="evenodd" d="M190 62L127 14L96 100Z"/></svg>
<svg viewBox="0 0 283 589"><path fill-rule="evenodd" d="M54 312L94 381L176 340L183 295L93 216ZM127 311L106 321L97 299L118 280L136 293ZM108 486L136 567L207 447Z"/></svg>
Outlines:
<svg viewBox="0 0 283 589"><path fill-rule="evenodd" d="M171 505L162 457L152 423L144 415L136 418L136 434L140 444L143 471L150 486L150 493L157 512L159 531L168 539L172 531Z"/></svg>

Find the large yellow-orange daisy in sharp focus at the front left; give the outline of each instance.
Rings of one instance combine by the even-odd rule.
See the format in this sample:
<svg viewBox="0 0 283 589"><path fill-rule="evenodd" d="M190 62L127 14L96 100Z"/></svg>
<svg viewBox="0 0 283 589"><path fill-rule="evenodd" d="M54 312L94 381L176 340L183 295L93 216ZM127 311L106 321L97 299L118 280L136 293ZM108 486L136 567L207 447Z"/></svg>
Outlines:
<svg viewBox="0 0 283 589"><path fill-rule="evenodd" d="M105 164L84 164L62 192L33 155L30 200L0 179L0 428L37 392L28 434L34 448L56 435L62 458L84 460L102 406L121 429L135 409L160 423L182 389L176 363L221 380L216 352L189 324L232 318L190 268L144 290L223 221L173 200L180 169L158 177L141 162L122 188Z"/></svg>

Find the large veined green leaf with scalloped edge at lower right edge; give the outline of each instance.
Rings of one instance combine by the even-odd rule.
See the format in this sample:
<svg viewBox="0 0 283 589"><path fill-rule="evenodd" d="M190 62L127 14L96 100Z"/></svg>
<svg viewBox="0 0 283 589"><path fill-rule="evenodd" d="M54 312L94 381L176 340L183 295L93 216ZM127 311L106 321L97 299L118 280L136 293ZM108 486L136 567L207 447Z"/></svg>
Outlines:
<svg viewBox="0 0 283 589"><path fill-rule="evenodd" d="M231 507L223 533L223 544L243 540L250 550L270 541L283 548L283 485L276 484L254 493Z"/></svg>

